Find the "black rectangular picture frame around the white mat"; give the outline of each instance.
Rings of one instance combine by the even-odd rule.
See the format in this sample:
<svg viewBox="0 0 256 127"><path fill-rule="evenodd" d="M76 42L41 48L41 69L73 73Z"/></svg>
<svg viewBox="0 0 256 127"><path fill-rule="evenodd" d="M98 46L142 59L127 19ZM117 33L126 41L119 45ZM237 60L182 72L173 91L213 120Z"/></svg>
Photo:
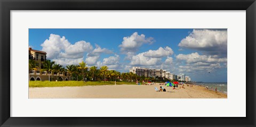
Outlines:
<svg viewBox="0 0 256 127"><path fill-rule="evenodd" d="M255 0L0 0L0 8L0 126L255 126ZM11 10L246 10L246 117L10 117Z"/></svg>

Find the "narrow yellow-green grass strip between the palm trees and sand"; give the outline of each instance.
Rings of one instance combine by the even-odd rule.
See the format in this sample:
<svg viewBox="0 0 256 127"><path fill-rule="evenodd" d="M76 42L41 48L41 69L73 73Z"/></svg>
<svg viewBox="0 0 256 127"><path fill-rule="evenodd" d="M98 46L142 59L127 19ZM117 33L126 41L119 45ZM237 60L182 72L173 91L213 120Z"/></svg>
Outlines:
<svg viewBox="0 0 256 127"><path fill-rule="evenodd" d="M135 82L118 81L116 84L136 84ZM79 87L115 85L115 81L29 81L29 87Z"/></svg>

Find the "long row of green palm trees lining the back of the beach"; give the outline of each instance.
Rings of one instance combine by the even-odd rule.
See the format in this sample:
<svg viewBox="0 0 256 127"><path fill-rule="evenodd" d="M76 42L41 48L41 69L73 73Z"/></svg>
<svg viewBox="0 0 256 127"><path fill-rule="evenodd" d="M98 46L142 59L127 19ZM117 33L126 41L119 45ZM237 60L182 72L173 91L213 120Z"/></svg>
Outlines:
<svg viewBox="0 0 256 127"><path fill-rule="evenodd" d="M35 61L29 61L29 70L34 70L38 68ZM132 72L121 73L115 70L109 70L108 66L101 66L99 69L97 66L87 66L87 64L82 61L81 63L74 65L67 65L66 68L60 64L55 64L55 62L45 61L43 71L47 71L49 74L54 73L58 80L61 80L59 76L61 74L69 75L69 79L73 81L125 81L125 82L165 82L169 81L163 77L145 77L139 76ZM176 80L171 80L176 81Z"/></svg>

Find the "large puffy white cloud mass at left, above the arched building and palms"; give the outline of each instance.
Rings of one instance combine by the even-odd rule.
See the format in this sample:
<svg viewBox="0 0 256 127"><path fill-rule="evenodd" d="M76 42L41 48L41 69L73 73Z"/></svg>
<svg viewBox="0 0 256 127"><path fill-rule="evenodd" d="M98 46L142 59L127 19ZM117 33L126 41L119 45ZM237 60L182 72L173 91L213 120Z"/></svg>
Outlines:
<svg viewBox="0 0 256 127"><path fill-rule="evenodd" d="M99 61L102 53L112 54L113 52L107 48L101 48L99 45L93 46L84 40L77 41L75 44L69 43L64 36L51 34L49 39L46 39L42 50L47 52L47 59L55 61L57 64L66 66L68 64L78 64L85 58L87 65L101 65ZM87 53L86 57L84 54Z"/></svg>

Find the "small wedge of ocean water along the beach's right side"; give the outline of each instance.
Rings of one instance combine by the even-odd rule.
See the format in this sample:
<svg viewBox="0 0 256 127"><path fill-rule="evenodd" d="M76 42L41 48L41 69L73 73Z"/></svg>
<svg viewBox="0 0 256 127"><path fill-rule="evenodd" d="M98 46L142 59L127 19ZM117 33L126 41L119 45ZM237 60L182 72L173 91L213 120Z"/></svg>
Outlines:
<svg viewBox="0 0 256 127"><path fill-rule="evenodd" d="M195 84L200 84L204 87L208 87L208 89L212 89L215 91L217 87L217 91L228 93L228 84L227 82L195 82Z"/></svg>

